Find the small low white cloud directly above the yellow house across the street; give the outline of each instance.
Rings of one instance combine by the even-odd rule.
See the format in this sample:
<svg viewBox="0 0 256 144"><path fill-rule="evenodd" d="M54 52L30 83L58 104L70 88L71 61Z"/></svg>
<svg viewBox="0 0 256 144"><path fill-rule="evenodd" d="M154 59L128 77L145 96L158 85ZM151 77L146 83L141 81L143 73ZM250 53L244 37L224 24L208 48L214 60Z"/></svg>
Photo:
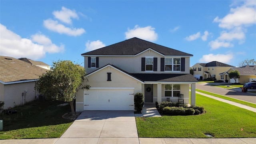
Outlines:
<svg viewBox="0 0 256 144"><path fill-rule="evenodd" d="M199 62L207 63L212 61L218 61L223 63L230 63L234 58L233 54L206 54L200 58Z"/></svg>

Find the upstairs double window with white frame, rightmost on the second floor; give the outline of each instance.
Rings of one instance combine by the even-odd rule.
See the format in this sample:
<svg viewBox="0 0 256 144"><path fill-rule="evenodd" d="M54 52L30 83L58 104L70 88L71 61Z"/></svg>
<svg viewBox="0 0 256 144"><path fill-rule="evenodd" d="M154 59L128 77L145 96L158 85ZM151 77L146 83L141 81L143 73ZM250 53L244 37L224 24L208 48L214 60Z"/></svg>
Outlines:
<svg viewBox="0 0 256 144"><path fill-rule="evenodd" d="M180 58L165 58L164 70L165 71L180 71Z"/></svg>

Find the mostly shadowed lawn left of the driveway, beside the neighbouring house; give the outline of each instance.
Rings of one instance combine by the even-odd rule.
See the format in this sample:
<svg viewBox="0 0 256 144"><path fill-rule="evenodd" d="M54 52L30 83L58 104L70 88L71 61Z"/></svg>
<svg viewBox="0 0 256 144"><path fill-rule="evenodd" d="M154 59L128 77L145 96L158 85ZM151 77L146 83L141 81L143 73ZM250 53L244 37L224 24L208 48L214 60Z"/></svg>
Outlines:
<svg viewBox="0 0 256 144"><path fill-rule="evenodd" d="M17 110L16 114L2 113L4 129L0 131L0 139L59 138L73 122L62 118L70 112L70 105L57 106L62 103L34 101L12 108Z"/></svg>

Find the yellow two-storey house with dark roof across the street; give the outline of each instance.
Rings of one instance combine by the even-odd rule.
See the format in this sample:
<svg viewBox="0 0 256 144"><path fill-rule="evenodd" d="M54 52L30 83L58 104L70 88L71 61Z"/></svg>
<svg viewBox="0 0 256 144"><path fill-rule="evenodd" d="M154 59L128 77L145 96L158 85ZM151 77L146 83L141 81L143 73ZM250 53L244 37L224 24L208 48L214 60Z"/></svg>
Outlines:
<svg viewBox="0 0 256 144"><path fill-rule="evenodd" d="M193 76L197 79L200 79L200 76L202 76L202 79L216 78L216 80L224 81L228 80L228 74L225 72L233 67L234 66L229 64L212 61L208 63L196 63L194 66L192 66L192 69L194 71Z"/></svg>

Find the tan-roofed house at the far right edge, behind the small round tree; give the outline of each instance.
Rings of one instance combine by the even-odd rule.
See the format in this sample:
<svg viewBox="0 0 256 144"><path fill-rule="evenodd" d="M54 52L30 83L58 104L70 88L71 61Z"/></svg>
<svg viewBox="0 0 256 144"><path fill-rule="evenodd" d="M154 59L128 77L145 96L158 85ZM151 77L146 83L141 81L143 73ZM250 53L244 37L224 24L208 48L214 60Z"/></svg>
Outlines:
<svg viewBox="0 0 256 144"><path fill-rule="evenodd" d="M242 66L240 68L230 68L226 73L229 74L232 71L238 70L240 78L236 79L237 83L245 84L253 80L256 81L256 65ZM234 79L229 79L231 83L235 83Z"/></svg>

